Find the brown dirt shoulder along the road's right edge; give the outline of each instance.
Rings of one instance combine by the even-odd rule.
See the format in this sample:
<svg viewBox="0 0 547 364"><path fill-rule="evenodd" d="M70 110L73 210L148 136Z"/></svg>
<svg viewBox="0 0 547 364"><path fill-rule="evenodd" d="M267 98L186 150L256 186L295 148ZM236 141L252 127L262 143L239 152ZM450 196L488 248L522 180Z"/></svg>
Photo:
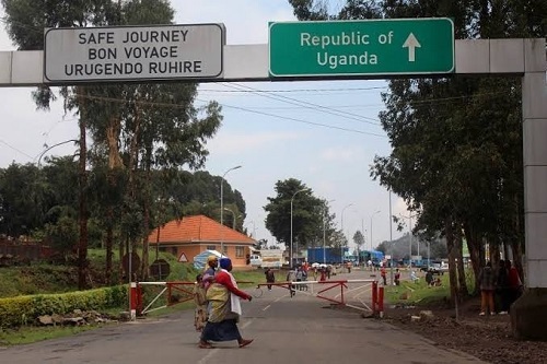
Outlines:
<svg viewBox="0 0 547 364"><path fill-rule="evenodd" d="M415 321L421 310L433 317ZM519 341L511 336L509 315L479 316L478 301L458 310L443 307L387 307L385 321L423 336L441 347L466 352L489 363L547 363L547 342Z"/></svg>

